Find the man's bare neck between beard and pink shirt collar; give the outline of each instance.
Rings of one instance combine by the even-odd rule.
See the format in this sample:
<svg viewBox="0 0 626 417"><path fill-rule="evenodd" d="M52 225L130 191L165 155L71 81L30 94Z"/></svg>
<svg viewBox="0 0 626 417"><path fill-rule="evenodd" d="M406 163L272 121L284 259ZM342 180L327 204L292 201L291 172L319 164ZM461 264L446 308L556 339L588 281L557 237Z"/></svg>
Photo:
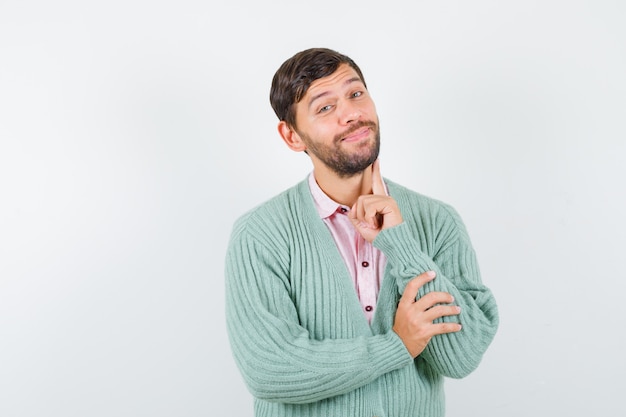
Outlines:
<svg viewBox="0 0 626 417"><path fill-rule="evenodd" d="M313 175L327 196L348 207L352 207L359 196L372 193L371 165L351 177L340 177L325 169L314 169Z"/></svg>

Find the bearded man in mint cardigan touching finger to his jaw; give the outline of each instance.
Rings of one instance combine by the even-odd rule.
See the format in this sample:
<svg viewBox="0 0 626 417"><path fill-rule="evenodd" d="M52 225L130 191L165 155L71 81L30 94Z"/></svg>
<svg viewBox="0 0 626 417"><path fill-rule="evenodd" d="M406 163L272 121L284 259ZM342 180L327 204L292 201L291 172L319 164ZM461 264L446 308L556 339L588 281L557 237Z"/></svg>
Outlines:
<svg viewBox="0 0 626 417"><path fill-rule="evenodd" d="M297 53L270 101L313 172L242 216L228 247L228 332L255 415L443 416L443 378L472 372L498 325L461 219L383 180L349 57Z"/></svg>

